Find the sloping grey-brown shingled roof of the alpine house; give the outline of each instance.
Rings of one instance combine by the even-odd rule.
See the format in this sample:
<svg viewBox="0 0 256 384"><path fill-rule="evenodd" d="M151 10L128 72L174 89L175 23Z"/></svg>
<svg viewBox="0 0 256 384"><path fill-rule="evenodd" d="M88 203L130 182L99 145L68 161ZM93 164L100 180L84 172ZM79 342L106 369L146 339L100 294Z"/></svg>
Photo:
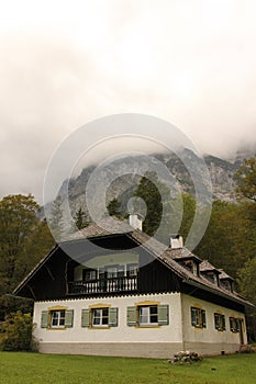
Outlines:
<svg viewBox="0 0 256 384"><path fill-rule="evenodd" d="M178 248L178 249L171 249L154 237L149 237L145 233L134 229L131 227L126 222L120 221L113 217L108 217L103 221L101 221L98 224L91 224L88 227L71 234L68 239L64 242L71 242L80 239L92 239L92 238L101 238L105 236L113 236L116 234L123 234L126 235L130 239L132 239L137 246L145 249L147 252L149 252L153 257L158 259L162 263L164 263L168 269L170 269L174 273L176 273L178 276L180 276L183 282L199 286L201 289L204 289L205 291L210 291L214 294L218 294L220 296L230 298L232 301L235 301L237 303L241 303L243 305L249 305L252 304L244 300L242 296L240 296L236 292L231 292L225 290L224 287L218 286L213 282L209 281L207 278L201 275L196 275L188 269L183 268L177 260L182 258L196 258L199 259L196 255L193 255L190 250L188 250L186 247ZM62 244L60 244L62 246ZM13 294L20 291L24 284L34 275L34 273L51 258L51 256L54 253L55 249L58 248L56 246L44 259L42 259L38 264L29 273L29 275L19 284L19 286L13 291ZM207 260L202 261L202 270L215 270L210 262ZM200 268L201 270L201 268ZM220 271L219 271L220 272ZM221 278L222 276L229 276L224 271L220 272ZM230 278L230 276L229 276ZM230 278L232 279L232 278Z"/></svg>

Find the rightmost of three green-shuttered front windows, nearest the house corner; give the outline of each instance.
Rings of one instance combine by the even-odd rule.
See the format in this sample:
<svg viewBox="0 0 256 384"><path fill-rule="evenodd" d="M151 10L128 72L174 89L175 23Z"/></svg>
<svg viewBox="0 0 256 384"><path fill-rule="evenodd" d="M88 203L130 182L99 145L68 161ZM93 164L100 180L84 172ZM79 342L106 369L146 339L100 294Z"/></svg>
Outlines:
<svg viewBox="0 0 256 384"><path fill-rule="evenodd" d="M168 324L168 305L137 305L127 307L129 327L165 326Z"/></svg>

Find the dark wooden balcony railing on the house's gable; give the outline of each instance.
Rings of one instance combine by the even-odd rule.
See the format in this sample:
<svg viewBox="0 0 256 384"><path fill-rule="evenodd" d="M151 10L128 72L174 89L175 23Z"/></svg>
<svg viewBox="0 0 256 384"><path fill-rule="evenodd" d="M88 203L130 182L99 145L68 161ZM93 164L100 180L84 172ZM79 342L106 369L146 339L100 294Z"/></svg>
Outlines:
<svg viewBox="0 0 256 384"><path fill-rule="evenodd" d="M68 295L131 292L136 290L137 276L111 278L93 281L71 281L68 283Z"/></svg>

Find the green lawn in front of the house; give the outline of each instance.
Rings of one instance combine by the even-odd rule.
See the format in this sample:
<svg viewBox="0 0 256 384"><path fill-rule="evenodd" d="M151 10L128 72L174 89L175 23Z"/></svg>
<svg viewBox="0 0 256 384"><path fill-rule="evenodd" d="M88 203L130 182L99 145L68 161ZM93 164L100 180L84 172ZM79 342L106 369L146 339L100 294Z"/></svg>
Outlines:
<svg viewBox="0 0 256 384"><path fill-rule="evenodd" d="M0 352L4 384L253 384L255 377L256 353L174 365L156 359Z"/></svg>

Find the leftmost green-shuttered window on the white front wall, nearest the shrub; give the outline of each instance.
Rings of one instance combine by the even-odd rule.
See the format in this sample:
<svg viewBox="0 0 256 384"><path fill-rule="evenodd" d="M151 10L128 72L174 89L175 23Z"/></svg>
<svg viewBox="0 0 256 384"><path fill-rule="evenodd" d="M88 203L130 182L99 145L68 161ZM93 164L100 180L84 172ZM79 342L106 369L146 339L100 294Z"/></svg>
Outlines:
<svg viewBox="0 0 256 384"><path fill-rule="evenodd" d="M41 328L70 328L73 327L73 309L51 309L41 314Z"/></svg>

